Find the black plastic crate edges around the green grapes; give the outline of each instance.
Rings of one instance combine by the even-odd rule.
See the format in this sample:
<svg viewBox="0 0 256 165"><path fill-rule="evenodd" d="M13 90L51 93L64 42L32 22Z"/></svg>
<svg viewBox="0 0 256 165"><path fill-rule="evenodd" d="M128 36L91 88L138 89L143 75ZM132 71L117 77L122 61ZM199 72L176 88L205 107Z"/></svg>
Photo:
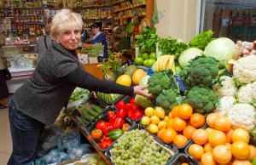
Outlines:
<svg viewBox="0 0 256 165"><path fill-rule="evenodd" d="M135 127L132 128L132 129L137 129L137 128L138 128L138 129L143 129L143 127L141 127L141 125L139 125L139 124L135 125ZM132 129L131 129L131 130L132 130ZM131 130L128 130L128 131L131 131ZM177 150L177 146L175 146L175 145L166 146L165 144L162 144L160 141L158 141L159 139L158 139L154 134L150 134L150 135L152 135L152 136L154 137L154 140L155 140L157 143L159 143L160 145L163 145L163 146L166 147L167 149L169 149L169 150L171 150L171 151L174 152L174 155L172 155L172 157L170 158L170 160L167 162L167 164L170 164L170 162L172 162L172 160L174 160L175 157L179 154L179 151ZM113 149L113 145L108 149L108 151L105 152L105 156L107 156L109 162L111 162L111 163L114 165L114 163L113 163L113 161L112 161L111 153L110 153L110 151L111 151L112 149Z"/></svg>

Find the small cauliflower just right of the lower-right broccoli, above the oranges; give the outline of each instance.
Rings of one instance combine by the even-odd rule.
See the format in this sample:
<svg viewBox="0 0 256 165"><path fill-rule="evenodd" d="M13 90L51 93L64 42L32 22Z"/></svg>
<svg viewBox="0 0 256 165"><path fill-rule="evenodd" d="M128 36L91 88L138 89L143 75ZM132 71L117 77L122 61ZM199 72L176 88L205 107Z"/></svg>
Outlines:
<svg viewBox="0 0 256 165"><path fill-rule="evenodd" d="M215 113L218 113L221 116L226 116L235 102L236 99L232 96L224 96L223 98L218 99Z"/></svg>

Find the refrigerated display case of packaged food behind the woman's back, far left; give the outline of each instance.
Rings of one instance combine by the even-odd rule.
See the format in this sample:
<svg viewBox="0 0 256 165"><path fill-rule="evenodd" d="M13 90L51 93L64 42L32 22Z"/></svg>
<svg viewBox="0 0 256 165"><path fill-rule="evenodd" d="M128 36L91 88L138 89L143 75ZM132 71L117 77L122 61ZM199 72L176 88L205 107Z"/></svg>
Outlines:
<svg viewBox="0 0 256 165"><path fill-rule="evenodd" d="M38 54L34 52L35 45L3 46L12 79L7 81L9 93L15 93L17 88L32 76L35 70Z"/></svg>

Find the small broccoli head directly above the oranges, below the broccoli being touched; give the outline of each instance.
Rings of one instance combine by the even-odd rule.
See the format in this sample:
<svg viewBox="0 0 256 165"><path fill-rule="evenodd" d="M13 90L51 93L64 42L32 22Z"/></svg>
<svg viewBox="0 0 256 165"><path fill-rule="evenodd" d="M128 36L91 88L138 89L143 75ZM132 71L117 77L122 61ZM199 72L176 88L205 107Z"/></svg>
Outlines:
<svg viewBox="0 0 256 165"><path fill-rule="evenodd" d="M177 92L172 89L163 90L156 98L156 105L165 110L166 114L178 105Z"/></svg>

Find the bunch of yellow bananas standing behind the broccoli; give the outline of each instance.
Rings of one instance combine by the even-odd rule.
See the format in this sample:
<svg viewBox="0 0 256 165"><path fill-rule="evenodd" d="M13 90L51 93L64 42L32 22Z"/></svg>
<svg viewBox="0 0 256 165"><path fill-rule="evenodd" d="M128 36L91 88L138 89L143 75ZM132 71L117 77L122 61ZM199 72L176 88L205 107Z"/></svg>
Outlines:
<svg viewBox="0 0 256 165"><path fill-rule="evenodd" d="M160 58L156 61L155 71L159 72L162 70L171 69L173 74L176 74L174 55L161 55Z"/></svg>

